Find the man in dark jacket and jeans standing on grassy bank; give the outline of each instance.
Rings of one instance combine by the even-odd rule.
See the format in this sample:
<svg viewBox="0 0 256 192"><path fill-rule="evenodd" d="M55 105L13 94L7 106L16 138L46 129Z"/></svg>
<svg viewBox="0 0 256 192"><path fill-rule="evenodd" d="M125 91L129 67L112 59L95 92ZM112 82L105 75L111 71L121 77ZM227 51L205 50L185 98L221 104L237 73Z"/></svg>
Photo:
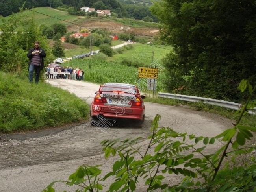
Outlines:
<svg viewBox="0 0 256 192"><path fill-rule="evenodd" d="M35 84L38 84L40 71L44 68L44 57L46 57L45 51L39 47L39 42L34 42L34 48L28 51L27 57L29 58L28 67L28 80L33 82L33 74L35 71Z"/></svg>

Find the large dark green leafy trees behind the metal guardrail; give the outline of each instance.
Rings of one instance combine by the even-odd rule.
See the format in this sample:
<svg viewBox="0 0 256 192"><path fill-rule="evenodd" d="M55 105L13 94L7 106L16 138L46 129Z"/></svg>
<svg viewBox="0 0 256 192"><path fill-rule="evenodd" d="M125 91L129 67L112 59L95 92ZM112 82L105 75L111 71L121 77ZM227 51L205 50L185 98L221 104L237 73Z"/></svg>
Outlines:
<svg viewBox="0 0 256 192"><path fill-rule="evenodd" d="M162 40L174 46L164 59L167 90L241 102L241 79L256 81L254 0L156 2ZM255 34L255 33L254 33Z"/></svg>

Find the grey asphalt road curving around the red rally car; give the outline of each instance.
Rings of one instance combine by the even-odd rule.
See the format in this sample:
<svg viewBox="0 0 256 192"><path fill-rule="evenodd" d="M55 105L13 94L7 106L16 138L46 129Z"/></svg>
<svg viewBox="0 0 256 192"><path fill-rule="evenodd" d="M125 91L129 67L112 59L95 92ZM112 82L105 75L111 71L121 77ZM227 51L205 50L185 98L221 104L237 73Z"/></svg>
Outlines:
<svg viewBox="0 0 256 192"><path fill-rule="evenodd" d="M99 87L94 83L64 79L48 79L46 82L76 94L88 104ZM161 115L159 127L167 126L198 136L212 137L232 127L230 120L216 114L145 102L145 123L142 127L134 122L118 121L102 130L85 122L25 134L0 135L0 192L39 192L52 181L67 180L82 164L100 164L104 175L111 171L118 157L104 159L100 141L139 136L145 138L150 135L151 121L156 114ZM143 150L147 140L140 145ZM216 143L207 150L213 152L220 145ZM171 175L165 181L173 184L180 179L179 175ZM111 182L105 181L103 184L109 186ZM65 183L56 183L54 187L56 191L74 191L76 188L68 188ZM142 182L137 191L145 191Z"/></svg>

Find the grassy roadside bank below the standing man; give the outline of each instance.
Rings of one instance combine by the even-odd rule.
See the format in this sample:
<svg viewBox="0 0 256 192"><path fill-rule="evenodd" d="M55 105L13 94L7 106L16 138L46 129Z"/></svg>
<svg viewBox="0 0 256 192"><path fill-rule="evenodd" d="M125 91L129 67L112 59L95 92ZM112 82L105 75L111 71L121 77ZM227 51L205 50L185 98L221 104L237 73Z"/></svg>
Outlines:
<svg viewBox="0 0 256 192"><path fill-rule="evenodd" d="M86 120L87 103L63 89L0 72L0 132L28 131Z"/></svg>

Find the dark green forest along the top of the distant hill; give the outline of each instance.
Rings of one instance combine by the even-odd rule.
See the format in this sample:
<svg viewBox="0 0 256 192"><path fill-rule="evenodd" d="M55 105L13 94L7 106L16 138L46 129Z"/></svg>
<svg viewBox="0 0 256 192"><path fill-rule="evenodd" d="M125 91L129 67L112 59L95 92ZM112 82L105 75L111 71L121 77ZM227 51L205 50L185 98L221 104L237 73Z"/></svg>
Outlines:
<svg viewBox="0 0 256 192"><path fill-rule="evenodd" d="M113 15L118 18L133 18L142 20L147 17L150 18L148 21L157 22L157 18L154 17L150 12L150 5L148 1L117 1L117 0L13 0L12 2L7 2L0 0L2 8L0 9L0 15L6 17L11 15L11 13L17 13L20 8L30 9L33 7L52 7L52 8L72 8L73 15L80 15L79 13L81 7L91 7L103 10L111 10Z"/></svg>

